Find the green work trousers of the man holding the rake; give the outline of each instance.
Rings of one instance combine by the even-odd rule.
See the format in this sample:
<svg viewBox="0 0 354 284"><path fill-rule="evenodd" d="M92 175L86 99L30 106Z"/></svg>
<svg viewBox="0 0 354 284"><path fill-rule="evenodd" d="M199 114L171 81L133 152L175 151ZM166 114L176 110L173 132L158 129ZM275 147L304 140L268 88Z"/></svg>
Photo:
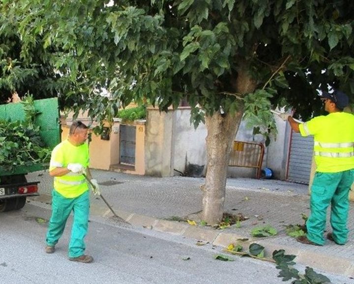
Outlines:
<svg viewBox="0 0 354 284"><path fill-rule="evenodd" d="M69 258L84 254L84 238L89 227L89 190L76 198L66 198L53 190L52 217L47 232L47 245L54 246L64 232L66 220L73 211L73 224L69 243Z"/></svg>

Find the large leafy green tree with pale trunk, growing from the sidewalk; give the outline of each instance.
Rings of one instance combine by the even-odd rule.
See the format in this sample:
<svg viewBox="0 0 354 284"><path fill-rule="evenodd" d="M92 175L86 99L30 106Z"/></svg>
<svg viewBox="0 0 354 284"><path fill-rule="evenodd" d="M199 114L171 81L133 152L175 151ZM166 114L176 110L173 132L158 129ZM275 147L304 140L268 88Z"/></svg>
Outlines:
<svg viewBox="0 0 354 284"><path fill-rule="evenodd" d="M207 122L205 196L221 208L242 115L267 134L270 108L307 119L321 112L317 90L354 93L352 0L3 0L1 12L19 62L39 52L59 75L62 108L101 121L117 102L186 100L192 121Z"/></svg>

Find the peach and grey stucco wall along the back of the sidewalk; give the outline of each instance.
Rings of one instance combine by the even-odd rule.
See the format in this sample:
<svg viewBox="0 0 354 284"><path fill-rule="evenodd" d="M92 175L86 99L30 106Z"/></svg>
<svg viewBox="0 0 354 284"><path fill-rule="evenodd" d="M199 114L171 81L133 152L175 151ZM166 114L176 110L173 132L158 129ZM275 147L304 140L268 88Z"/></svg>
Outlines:
<svg viewBox="0 0 354 284"><path fill-rule="evenodd" d="M87 125L90 121L85 114L79 116ZM275 118L277 123L277 139L271 139L265 150L263 168L273 170L274 177L284 179L286 174L289 129L287 124ZM71 125L71 118L67 119ZM177 110L161 112L148 108L146 123L136 124L136 160L134 169L119 169L119 126L115 120L110 133L110 140L101 140L92 134L90 143L91 167L104 170L124 171L132 174L151 176L173 176L186 174L188 165L205 166L207 164L206 137L207 129L200 124L197 129L190 124L190 107L179 107ZM253 135L253 129L241 122L235 140L246 142L262 142L262 135ZM68 128L63 127L62 138L65 139ZM114 166L114 167L112 167ZM203 174L205 174L204 167ZM228 177L255 178L256 169L229 167Z"/></svg>

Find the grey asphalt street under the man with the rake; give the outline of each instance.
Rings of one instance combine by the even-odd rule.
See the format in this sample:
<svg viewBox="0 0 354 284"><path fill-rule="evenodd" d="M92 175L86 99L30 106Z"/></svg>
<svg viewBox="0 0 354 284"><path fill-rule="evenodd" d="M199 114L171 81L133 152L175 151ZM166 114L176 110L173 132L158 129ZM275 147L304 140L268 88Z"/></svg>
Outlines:
<svg viewBox="0 0 354 284"><path fill-rule="evenodd" d="M144 228L119 228L100 218L91 219L87 236L87 253L94 262L72 262L67 258L70 222L57 251L44 252L47 223L41 221L49 216L47 208L30 204L0 215L2 284L284 283L272 263L215 260L220 248L210 244L197 246L193 239Z"/></svg>

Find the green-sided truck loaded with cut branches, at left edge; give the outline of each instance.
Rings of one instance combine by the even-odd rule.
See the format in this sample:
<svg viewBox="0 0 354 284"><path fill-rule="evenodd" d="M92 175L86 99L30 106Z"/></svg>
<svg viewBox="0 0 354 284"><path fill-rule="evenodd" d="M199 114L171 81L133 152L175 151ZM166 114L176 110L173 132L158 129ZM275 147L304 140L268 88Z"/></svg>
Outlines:
<svg viewBox="0 0 354 284"><path fill-rule="evenodd" d="M60 142L58 98L34 100L35 125L40 127L41 139L48 148ZM23 121L25 111L22 103L0 105L0 120ZM36 196L39 181L27 182L26 175L48 169L48 163L36 163L14 167L12 171L0 165L0 212L17 210L25 206L28 196Z"/></svg>

